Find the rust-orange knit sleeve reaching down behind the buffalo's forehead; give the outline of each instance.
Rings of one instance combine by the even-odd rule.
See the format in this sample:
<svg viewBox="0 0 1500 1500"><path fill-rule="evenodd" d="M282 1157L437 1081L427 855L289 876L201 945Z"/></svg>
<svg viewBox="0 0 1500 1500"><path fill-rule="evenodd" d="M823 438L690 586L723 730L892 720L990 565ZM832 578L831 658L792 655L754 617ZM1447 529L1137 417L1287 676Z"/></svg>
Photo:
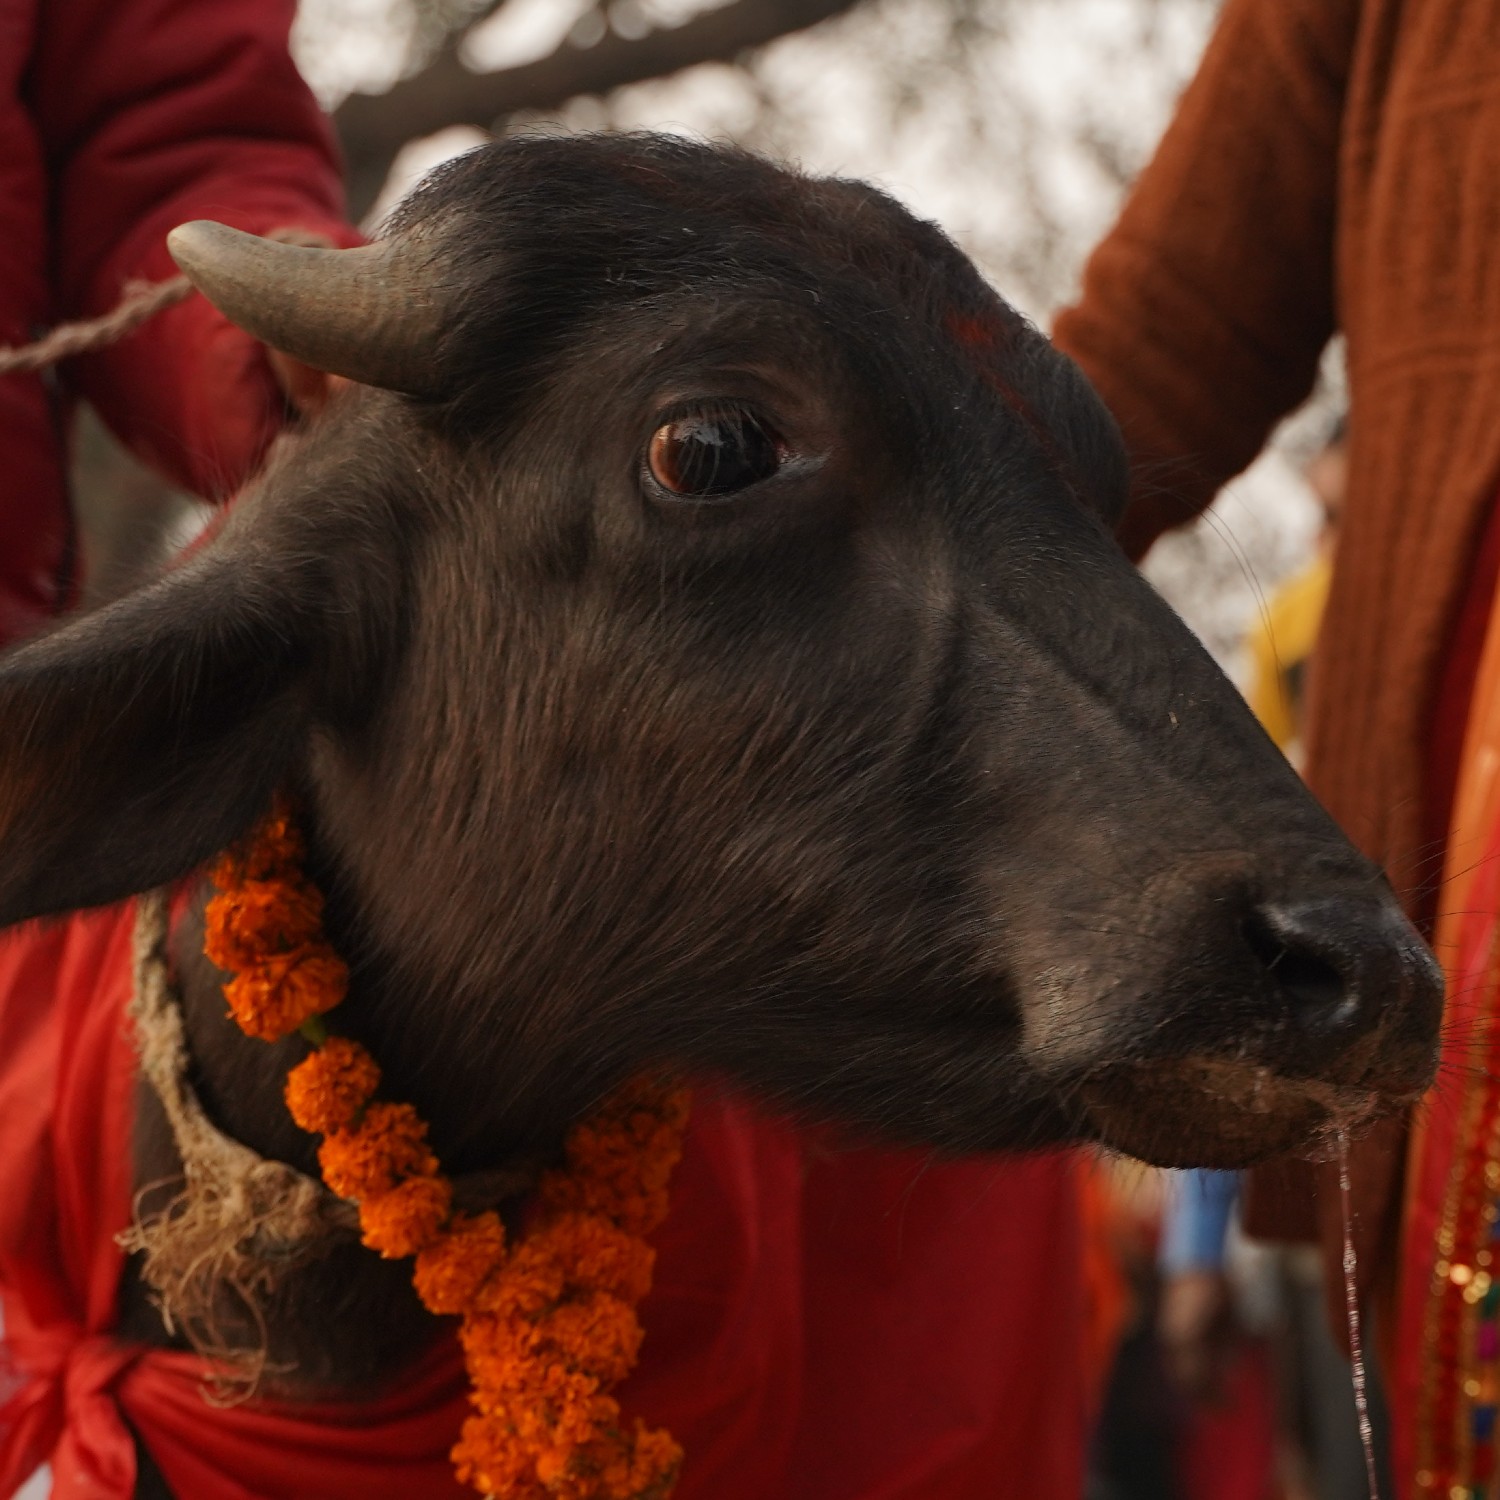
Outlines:
<svg viewBox="0 0 1500 1500"><path fill-rule="evenodd" d="M1310 392L1334 332L1358 0L1228 0L1178 116L1054 330L1134 464L1120 540L1196 516Z"/></svg>

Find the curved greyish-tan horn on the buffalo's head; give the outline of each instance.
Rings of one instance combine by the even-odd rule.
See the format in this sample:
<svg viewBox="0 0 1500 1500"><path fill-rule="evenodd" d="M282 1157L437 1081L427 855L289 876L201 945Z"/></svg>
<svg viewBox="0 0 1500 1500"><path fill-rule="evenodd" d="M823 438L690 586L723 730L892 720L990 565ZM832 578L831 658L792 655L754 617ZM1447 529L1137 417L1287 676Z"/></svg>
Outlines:
<svg viewBox="0 0 1500 1500"><path fill-rule="evenodd" d="M354 250L262 240L196 219L166 236L183 274L231 322L330 375L434 394L432 284L382 240Z"/></svg>

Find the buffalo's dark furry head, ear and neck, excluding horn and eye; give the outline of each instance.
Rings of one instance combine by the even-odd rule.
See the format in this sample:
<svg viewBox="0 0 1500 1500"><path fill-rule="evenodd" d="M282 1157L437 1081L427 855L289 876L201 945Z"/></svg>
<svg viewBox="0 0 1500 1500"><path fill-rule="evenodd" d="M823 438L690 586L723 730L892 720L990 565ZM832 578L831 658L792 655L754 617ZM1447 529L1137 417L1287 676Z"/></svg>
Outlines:
<svg viewBox="0 0 1500 1500"><path fill-rule="evenodd" d="M392 232L442 394L336 404L201 555L0 666L0 921L182 876L294 782L338 1024L458 1172L652 1064L945 1150L1222 1162L1425 1083L1430 960L1114 548L1100 402L938 230L594 138L476 152ZM664 500L645 442L705 398L794 459ZM302 1044L178 951L210 1108L310 1166ZM272 1358L388 1371L396 1280L310 1274Z"/></svg>

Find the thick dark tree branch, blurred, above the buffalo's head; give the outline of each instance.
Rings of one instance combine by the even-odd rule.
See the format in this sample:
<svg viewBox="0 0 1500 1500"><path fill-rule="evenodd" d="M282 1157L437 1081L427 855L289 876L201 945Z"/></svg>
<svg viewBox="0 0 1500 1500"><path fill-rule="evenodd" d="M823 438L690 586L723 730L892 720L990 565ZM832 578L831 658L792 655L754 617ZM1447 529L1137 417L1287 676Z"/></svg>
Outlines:
<svg viewBox="0 0 1500 1500"><path fill-rule="evenodd" d="M734 0L678 27L627 39L606 32L592 46L564 42L519 68L476 74L458 46L384 94L351 94L334 112L350 171L350 200L363 214L408 141L452 124L490 129L518 110L549 110L578 94L662 78L694 63L734 62L741 52L816 26L858 0ZM484 8L492 9L490 6ZM458 39L454 39L456 44Z"/></svg>

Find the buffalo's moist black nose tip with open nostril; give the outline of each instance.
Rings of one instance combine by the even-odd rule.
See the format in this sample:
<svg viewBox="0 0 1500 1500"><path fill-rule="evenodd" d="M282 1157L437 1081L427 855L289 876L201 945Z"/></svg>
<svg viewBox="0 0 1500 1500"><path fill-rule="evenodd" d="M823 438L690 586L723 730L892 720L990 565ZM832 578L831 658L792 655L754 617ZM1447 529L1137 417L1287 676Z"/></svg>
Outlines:
<svg viewBox="0 0 1500 1500"><path fill-rule="evenodd" d="M1244 933L1290 1022L1298 1072L1336 1070L1341 1053L1382 1029L1431 1046L1442 970L1389 898L1263 903Z"/></svg>

